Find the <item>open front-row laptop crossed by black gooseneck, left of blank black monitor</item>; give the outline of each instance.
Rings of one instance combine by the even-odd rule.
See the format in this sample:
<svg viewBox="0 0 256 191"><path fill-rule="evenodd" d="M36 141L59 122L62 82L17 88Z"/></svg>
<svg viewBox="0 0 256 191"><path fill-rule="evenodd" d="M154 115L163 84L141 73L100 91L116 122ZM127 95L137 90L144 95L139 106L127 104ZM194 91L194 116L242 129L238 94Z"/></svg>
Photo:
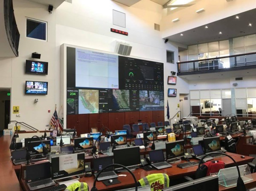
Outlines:
<svg viewBox="0 0 256 191"><path fill-rule="evenodd" d="M94 176L96 177L100 170L102 170L103 168L111 164L113 164L112 157L99 157L99 158L93 159ZM111 166L110 168L105 169L105 171L103 171L99 175L98 181L109 180L113 178L118 178L118 175L115 173L113 166Z"/></svg>

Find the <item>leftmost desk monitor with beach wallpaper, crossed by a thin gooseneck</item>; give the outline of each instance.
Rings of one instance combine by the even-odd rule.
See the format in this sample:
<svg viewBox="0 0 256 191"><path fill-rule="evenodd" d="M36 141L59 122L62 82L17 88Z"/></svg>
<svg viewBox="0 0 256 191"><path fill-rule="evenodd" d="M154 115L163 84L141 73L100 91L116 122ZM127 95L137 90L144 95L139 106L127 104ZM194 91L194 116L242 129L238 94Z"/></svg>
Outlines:
<svg viewBox="0 0 256 191"><path fill-rule="evenodd" d="M48 153L51 152L51 141L50 140L42 140L44 147L47 148ZM43 145L41 141L33 141L29 145L29 154L37 155L43 154Z"/></svg>

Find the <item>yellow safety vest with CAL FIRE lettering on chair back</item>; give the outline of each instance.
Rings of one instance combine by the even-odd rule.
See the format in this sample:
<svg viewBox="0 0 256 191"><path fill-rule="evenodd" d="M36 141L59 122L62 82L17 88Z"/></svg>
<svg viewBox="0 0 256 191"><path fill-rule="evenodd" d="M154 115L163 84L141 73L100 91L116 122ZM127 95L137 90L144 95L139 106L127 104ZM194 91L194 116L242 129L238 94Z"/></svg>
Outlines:
<svg viewBox="0 0 256 191"><path fill-rule="evenodd" d="M160 191L169 187L169 177L167 174L150 174L139 180L141 186L149 185L151 191Z"/></svg>

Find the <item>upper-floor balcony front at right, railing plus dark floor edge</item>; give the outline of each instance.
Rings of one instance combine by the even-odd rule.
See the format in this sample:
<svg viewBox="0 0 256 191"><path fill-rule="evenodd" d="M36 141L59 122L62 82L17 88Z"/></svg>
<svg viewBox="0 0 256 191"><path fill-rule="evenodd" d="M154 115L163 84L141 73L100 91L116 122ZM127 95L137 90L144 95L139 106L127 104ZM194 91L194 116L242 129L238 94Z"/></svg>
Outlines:
<svg viewBox="0 0 256 191"><path fill-rule="evenodd" d="M178 62L178 76L256 68L256 52Z"/></svg>

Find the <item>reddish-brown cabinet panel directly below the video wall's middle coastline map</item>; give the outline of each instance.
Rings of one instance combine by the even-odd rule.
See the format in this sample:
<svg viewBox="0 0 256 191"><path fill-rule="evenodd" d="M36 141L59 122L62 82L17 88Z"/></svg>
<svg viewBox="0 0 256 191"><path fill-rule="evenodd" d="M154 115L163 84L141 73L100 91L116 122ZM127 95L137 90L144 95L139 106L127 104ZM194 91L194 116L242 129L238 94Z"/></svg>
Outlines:
<svg viewBox="0 0 256 191"><path fill-rule="evenodd" d="M122 130L125 125L125 112L108 113L108 128L110 131Z"/></svg>

